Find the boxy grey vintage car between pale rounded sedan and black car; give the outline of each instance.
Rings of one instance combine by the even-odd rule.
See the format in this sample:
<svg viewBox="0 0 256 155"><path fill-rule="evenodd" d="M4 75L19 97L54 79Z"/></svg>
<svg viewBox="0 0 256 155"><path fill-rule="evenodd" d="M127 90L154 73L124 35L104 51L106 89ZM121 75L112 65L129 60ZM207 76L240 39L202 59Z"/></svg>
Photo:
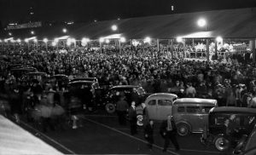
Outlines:
<svg viewBox="0 0 256 155"><path fill-rule="evenodd" d="M182 98L173 102L172 117L177 124L178 135L202 133L208 122L208 112L217 106L217 100Z"/></svg>

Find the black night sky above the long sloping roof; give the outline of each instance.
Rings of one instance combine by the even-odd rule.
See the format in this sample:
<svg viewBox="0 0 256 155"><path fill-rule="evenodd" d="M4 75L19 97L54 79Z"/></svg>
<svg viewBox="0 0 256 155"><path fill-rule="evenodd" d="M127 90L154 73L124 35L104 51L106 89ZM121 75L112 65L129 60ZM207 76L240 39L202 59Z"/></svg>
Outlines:
<svg viewBox="0 0 256 155"><path fill-rule="evenodd" d="M0 21L3 26L29 20L87 22L248 7L256 7L256 0L0 0Z"/></svg>

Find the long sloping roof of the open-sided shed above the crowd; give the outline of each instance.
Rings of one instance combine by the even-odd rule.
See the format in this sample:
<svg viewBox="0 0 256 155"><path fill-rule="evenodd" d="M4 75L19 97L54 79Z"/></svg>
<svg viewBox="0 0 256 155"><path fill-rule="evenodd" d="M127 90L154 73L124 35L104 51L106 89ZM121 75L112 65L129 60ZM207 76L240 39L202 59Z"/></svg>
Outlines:
<svg viewBox="0 0 256 155"><path fill-rule="evenodd" d="M207 20L207 27L197 26L197 20ZM113 32L111 26L118 26ZM207 12L167 14L131 18L124 20L106 20L93 23L84 23L66 27L69 36L76 39L89 37L98 39L113 33L121 33L127 39L152 38L204 38L204 37L226 37L226 38L256 38L256 8L226 9ZM62 27L49 26L34 29L38 38L63 36ZM37 30L38 29L38 30ZM15 30L14 37L25 37L30 30ZM16 34L17 32L17 34ZM23 33L22 33L23 32ZM1 37L2 32L0 33ZM8 32L5 32L7 35ZM206 34L206 35L204 35ZM2 35L3 37L4 35ZM5 36L8 37L8 36ZM51 38L52 39L52 38Z"/></svg>

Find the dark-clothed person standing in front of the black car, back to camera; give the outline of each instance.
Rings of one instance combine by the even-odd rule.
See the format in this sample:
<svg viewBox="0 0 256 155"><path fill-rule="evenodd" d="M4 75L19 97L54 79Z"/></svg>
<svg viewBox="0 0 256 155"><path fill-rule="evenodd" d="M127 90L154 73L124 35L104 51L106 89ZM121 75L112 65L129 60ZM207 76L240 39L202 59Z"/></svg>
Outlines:
<svg viewBox="0 0 256 155"><path fill-rule="evenodd" d="M119 124L120 125L126 125L126 113L128 111L129 105L127 101L125 100L125 96L120 96L119 101L116 104L116 111L119 116Z"/></svg>

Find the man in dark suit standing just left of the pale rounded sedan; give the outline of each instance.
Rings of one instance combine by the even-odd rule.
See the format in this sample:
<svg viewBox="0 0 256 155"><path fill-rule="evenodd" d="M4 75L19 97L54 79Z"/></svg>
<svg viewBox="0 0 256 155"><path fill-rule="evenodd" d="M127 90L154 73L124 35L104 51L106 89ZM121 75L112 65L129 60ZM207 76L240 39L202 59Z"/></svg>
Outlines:
<svg viewBox="0 0 256 155"><path fill-rule="evenodd" d="M131 107L128 111L128 118L130 121L130 127L131 127L131 135L137 134L137 113L136 113L136 106L135 102L131 102Z"/></svg>

